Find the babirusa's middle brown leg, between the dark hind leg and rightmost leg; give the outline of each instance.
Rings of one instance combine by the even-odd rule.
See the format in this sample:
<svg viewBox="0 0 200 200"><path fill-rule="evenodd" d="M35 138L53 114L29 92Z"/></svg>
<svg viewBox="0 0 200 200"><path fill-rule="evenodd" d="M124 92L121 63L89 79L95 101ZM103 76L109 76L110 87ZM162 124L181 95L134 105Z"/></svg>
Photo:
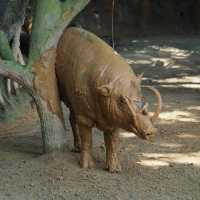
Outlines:
<svg viewBox="0 0 200 200"><path fill-rule="evenodd" d="M82 168L94 167L92 157L92 129L85 125L79 125L81 136L81 159L80 165Z"/></svg>

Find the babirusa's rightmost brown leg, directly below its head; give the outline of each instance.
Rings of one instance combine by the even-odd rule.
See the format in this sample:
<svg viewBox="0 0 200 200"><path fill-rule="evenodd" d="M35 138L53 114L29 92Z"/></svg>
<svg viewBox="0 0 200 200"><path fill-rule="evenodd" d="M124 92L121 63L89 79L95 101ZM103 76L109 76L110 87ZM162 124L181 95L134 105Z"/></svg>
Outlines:
<svg viewBox="0 0 200 200"><path fill-rule="evenodd" d="M121 171L121 165L117 156L118 134L104 133L104 141L106 146L106 169L110 172Z"/></svg>

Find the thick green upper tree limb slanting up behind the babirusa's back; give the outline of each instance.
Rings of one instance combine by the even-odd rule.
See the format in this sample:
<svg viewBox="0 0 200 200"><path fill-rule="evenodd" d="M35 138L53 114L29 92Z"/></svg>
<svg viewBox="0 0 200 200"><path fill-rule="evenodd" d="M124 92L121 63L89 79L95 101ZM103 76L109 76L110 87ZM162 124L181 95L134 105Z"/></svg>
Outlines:
<svg viewBox="0 0 200 200"><path fill-rule="evenodd" d="M29 66L56 47L64 28L90 0L37 0L31 34ZM42 20L41 20L42 19Z"/></svg>

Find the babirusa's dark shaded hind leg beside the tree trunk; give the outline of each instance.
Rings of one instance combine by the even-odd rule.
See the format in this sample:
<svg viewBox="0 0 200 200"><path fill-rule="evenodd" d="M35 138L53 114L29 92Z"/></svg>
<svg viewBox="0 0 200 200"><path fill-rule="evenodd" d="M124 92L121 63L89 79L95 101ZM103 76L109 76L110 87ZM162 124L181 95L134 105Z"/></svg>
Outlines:
<svg viewBox="0 0 200 200"><path fill-rule="evenodd" d="M74 148L72 149L73 152L80 152L81 148L81 141L80 141L80 135L78 130L78 124L76 122L76 118L74 116L74 113L70 111L69 121L72 127L73 132L73 138L74 138Z"/></svg>

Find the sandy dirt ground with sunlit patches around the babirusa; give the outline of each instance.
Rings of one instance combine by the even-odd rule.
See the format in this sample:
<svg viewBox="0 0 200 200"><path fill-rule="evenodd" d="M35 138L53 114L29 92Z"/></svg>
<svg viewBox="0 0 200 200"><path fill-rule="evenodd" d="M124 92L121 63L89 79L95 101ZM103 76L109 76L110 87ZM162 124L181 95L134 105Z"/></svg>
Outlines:
<svg viewBox="0 0 200 200"><path fill-rule="evenodd" d="M120 134L123 171L104 170L103 135L94 131L96 168L81 169L79 154L41 154L39 126L10 129L0 138L0 200L200 200L200 42L197 38L133 40L118 50L144 84L164 101L159 134L143 141ZM150 105L154 99L146 93ZM17 134L14 134L17 132ZM9 134L8 134L9 133Z"/></svg>

